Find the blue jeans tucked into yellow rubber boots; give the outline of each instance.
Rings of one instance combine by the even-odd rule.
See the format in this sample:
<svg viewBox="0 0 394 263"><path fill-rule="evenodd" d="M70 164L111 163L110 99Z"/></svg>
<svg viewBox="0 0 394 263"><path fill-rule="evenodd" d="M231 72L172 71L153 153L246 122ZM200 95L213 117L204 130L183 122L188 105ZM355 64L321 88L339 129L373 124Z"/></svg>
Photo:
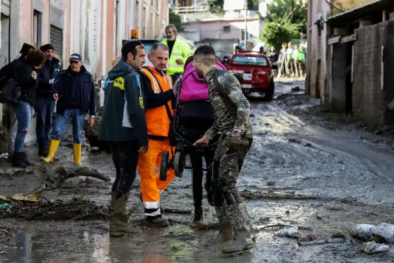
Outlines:
<svg viewBox="0 0 394 263"><path fill-rule="evenodd" d="M81 110L66 110L63 115L56 114L55 125L51 132L51 139L60 141L63 133L66 131L67 123L70 119L72 124L72 142L74 144L80 144L82 142L82 129L85 124L85 113Z"/></svg>

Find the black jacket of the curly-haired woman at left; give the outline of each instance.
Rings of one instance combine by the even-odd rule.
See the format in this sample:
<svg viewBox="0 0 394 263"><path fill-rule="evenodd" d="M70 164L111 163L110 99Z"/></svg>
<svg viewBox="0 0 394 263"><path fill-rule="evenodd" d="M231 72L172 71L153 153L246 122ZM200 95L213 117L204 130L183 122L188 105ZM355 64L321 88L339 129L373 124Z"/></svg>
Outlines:
<svg viewBox="0 0 394 263"><path fill-rule="evenodd" d="M18 68L18 73L13 77L21 88L19 100L29 103L32 107L35 104L35 93L38 86L38 79L34 80L32 77L33 71L37 72L38 70L23 62L22 66Z"/></svg>

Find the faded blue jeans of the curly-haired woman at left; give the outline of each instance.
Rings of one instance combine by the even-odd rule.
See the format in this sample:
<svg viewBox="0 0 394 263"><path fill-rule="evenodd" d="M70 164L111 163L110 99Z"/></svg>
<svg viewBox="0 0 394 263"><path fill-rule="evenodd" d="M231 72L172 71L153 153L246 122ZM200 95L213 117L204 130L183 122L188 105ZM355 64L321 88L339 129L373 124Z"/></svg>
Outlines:
<svg viewBox="0 0 394 263"><path fill-rule="evenodd" d="M28 133L30 123L33 116L32 106L24 101L19 101L14 105L16 119L18 121L18 129L15 137L15 152L23 152L25 150L25 138Z"/></svg>

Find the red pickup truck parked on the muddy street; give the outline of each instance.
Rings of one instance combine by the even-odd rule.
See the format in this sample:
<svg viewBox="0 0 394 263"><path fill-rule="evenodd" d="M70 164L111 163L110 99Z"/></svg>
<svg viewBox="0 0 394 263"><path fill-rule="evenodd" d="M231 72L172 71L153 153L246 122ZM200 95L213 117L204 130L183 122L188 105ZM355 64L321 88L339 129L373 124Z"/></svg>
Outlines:
<svg viewBox="0 0 394 263"><path fill-rule="evenodd" d="M241 51L232 55L227 69L243 77L242 92L259 92L265 101L271 101L275 84L269 58L261 52Z"/></svg>

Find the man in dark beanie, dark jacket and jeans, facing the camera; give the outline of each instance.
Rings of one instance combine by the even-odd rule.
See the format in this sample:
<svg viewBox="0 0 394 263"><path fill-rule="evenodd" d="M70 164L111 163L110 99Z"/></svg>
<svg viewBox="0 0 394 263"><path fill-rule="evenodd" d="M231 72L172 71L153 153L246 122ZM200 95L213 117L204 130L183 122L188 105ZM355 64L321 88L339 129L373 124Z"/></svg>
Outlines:
<svg viewBox="0 0 394 263"><path fill-rule="evenodd" d="M35 110L37 113L37 123L35 131L38 142L38 155L48 156L49 132L52 126L53 111L55 100L52 94L52 84L55 77L59 74L61 67L60 61L54 57L55 48L51 44L40 47L44 52L46 61L44 67L38 74L38 88Z"/></svg>

